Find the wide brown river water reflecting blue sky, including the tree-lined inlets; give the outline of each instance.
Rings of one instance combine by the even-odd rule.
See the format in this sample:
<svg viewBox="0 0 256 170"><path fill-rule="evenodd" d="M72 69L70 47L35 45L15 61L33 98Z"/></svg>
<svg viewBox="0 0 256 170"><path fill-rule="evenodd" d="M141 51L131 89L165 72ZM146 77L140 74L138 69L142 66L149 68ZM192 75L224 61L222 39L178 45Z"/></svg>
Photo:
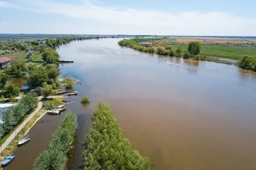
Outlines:
<svg viewBox="0 0 256 170"><path fill-rule="evenodd" d="M81 141L100 101L112 106L125 137L154 170L256 169L256 74L236 66L137 52L120 39L74 41L58 48L61 73L81 80L79 130L68 169L83 169ZM166 60L169 63L164 62ZM83 106L81 94L92 102ZM65 113L64 113L65 114ZM4 169L32 169L63 115L45 115Z"/></svg>

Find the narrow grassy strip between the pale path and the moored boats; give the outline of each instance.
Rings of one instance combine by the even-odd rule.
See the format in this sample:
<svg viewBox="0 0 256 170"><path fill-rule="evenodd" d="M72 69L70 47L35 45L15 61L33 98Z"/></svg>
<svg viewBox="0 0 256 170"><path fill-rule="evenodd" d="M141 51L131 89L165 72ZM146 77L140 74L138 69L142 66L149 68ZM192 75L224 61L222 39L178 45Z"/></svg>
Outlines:
<svg viewBox="0 0 256 170"><path fill-rule="evenodd" d="M13 151L15 148L17 148L17 145L21 139L23 139L26 136L26 131L28 131L29 128L35 123L38 117L40 117L46 110L40 110L35 117L33 117L28 124L20 131L20 133L13 139L13 141L10 143L10 145L4 150L4 152L1 153L1 157L7 157ZM11 134L11 133L10 133ZM3 161L3 159L0 158L0 161Z"/></svg>

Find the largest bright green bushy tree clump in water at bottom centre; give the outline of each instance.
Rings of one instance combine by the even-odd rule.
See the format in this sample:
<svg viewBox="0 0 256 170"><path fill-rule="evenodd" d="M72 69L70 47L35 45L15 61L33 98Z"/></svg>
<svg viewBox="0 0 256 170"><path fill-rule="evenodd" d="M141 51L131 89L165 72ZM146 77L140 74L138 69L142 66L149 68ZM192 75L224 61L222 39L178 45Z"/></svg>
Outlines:
<svg viewBox="0 0 256 170"><path fill-rule="evenodd" d="M99 103L93 110L92 125L86 135L84 169L152 169L120 129L110 106Z"/></svg>

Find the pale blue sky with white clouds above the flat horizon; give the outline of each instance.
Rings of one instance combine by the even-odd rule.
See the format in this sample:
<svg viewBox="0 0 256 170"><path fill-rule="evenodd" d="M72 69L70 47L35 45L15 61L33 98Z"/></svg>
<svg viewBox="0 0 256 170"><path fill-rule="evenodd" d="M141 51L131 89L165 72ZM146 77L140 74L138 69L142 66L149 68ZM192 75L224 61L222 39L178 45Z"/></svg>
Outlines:
<svg viewBox="0 0 256 170"><path fill-rule="evenodd" d="M255 1L0 0L0 33L256 36Z"/></svg>

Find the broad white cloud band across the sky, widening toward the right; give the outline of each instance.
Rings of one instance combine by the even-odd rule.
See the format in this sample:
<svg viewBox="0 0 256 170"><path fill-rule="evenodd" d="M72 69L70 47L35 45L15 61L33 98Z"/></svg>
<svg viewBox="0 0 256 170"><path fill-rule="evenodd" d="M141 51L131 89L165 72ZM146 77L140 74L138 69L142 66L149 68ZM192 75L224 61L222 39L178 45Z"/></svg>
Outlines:
<svg viewBox="0 0 256 170"><path fill-rule="evenodd" d="M256 19L241 18L219 11L180 13L120 9L100 6L95 0L49 1L20 0L17 4L0 1L0 7L52 13L67 17L96 20L105 27L103 34L175 34L255 36ZM86 21L88 22L88 21ZM110 28L109 25L112 27ZM70 33L72 32L70 30ZM98 32L94 32L97 34Z"/></svg>

